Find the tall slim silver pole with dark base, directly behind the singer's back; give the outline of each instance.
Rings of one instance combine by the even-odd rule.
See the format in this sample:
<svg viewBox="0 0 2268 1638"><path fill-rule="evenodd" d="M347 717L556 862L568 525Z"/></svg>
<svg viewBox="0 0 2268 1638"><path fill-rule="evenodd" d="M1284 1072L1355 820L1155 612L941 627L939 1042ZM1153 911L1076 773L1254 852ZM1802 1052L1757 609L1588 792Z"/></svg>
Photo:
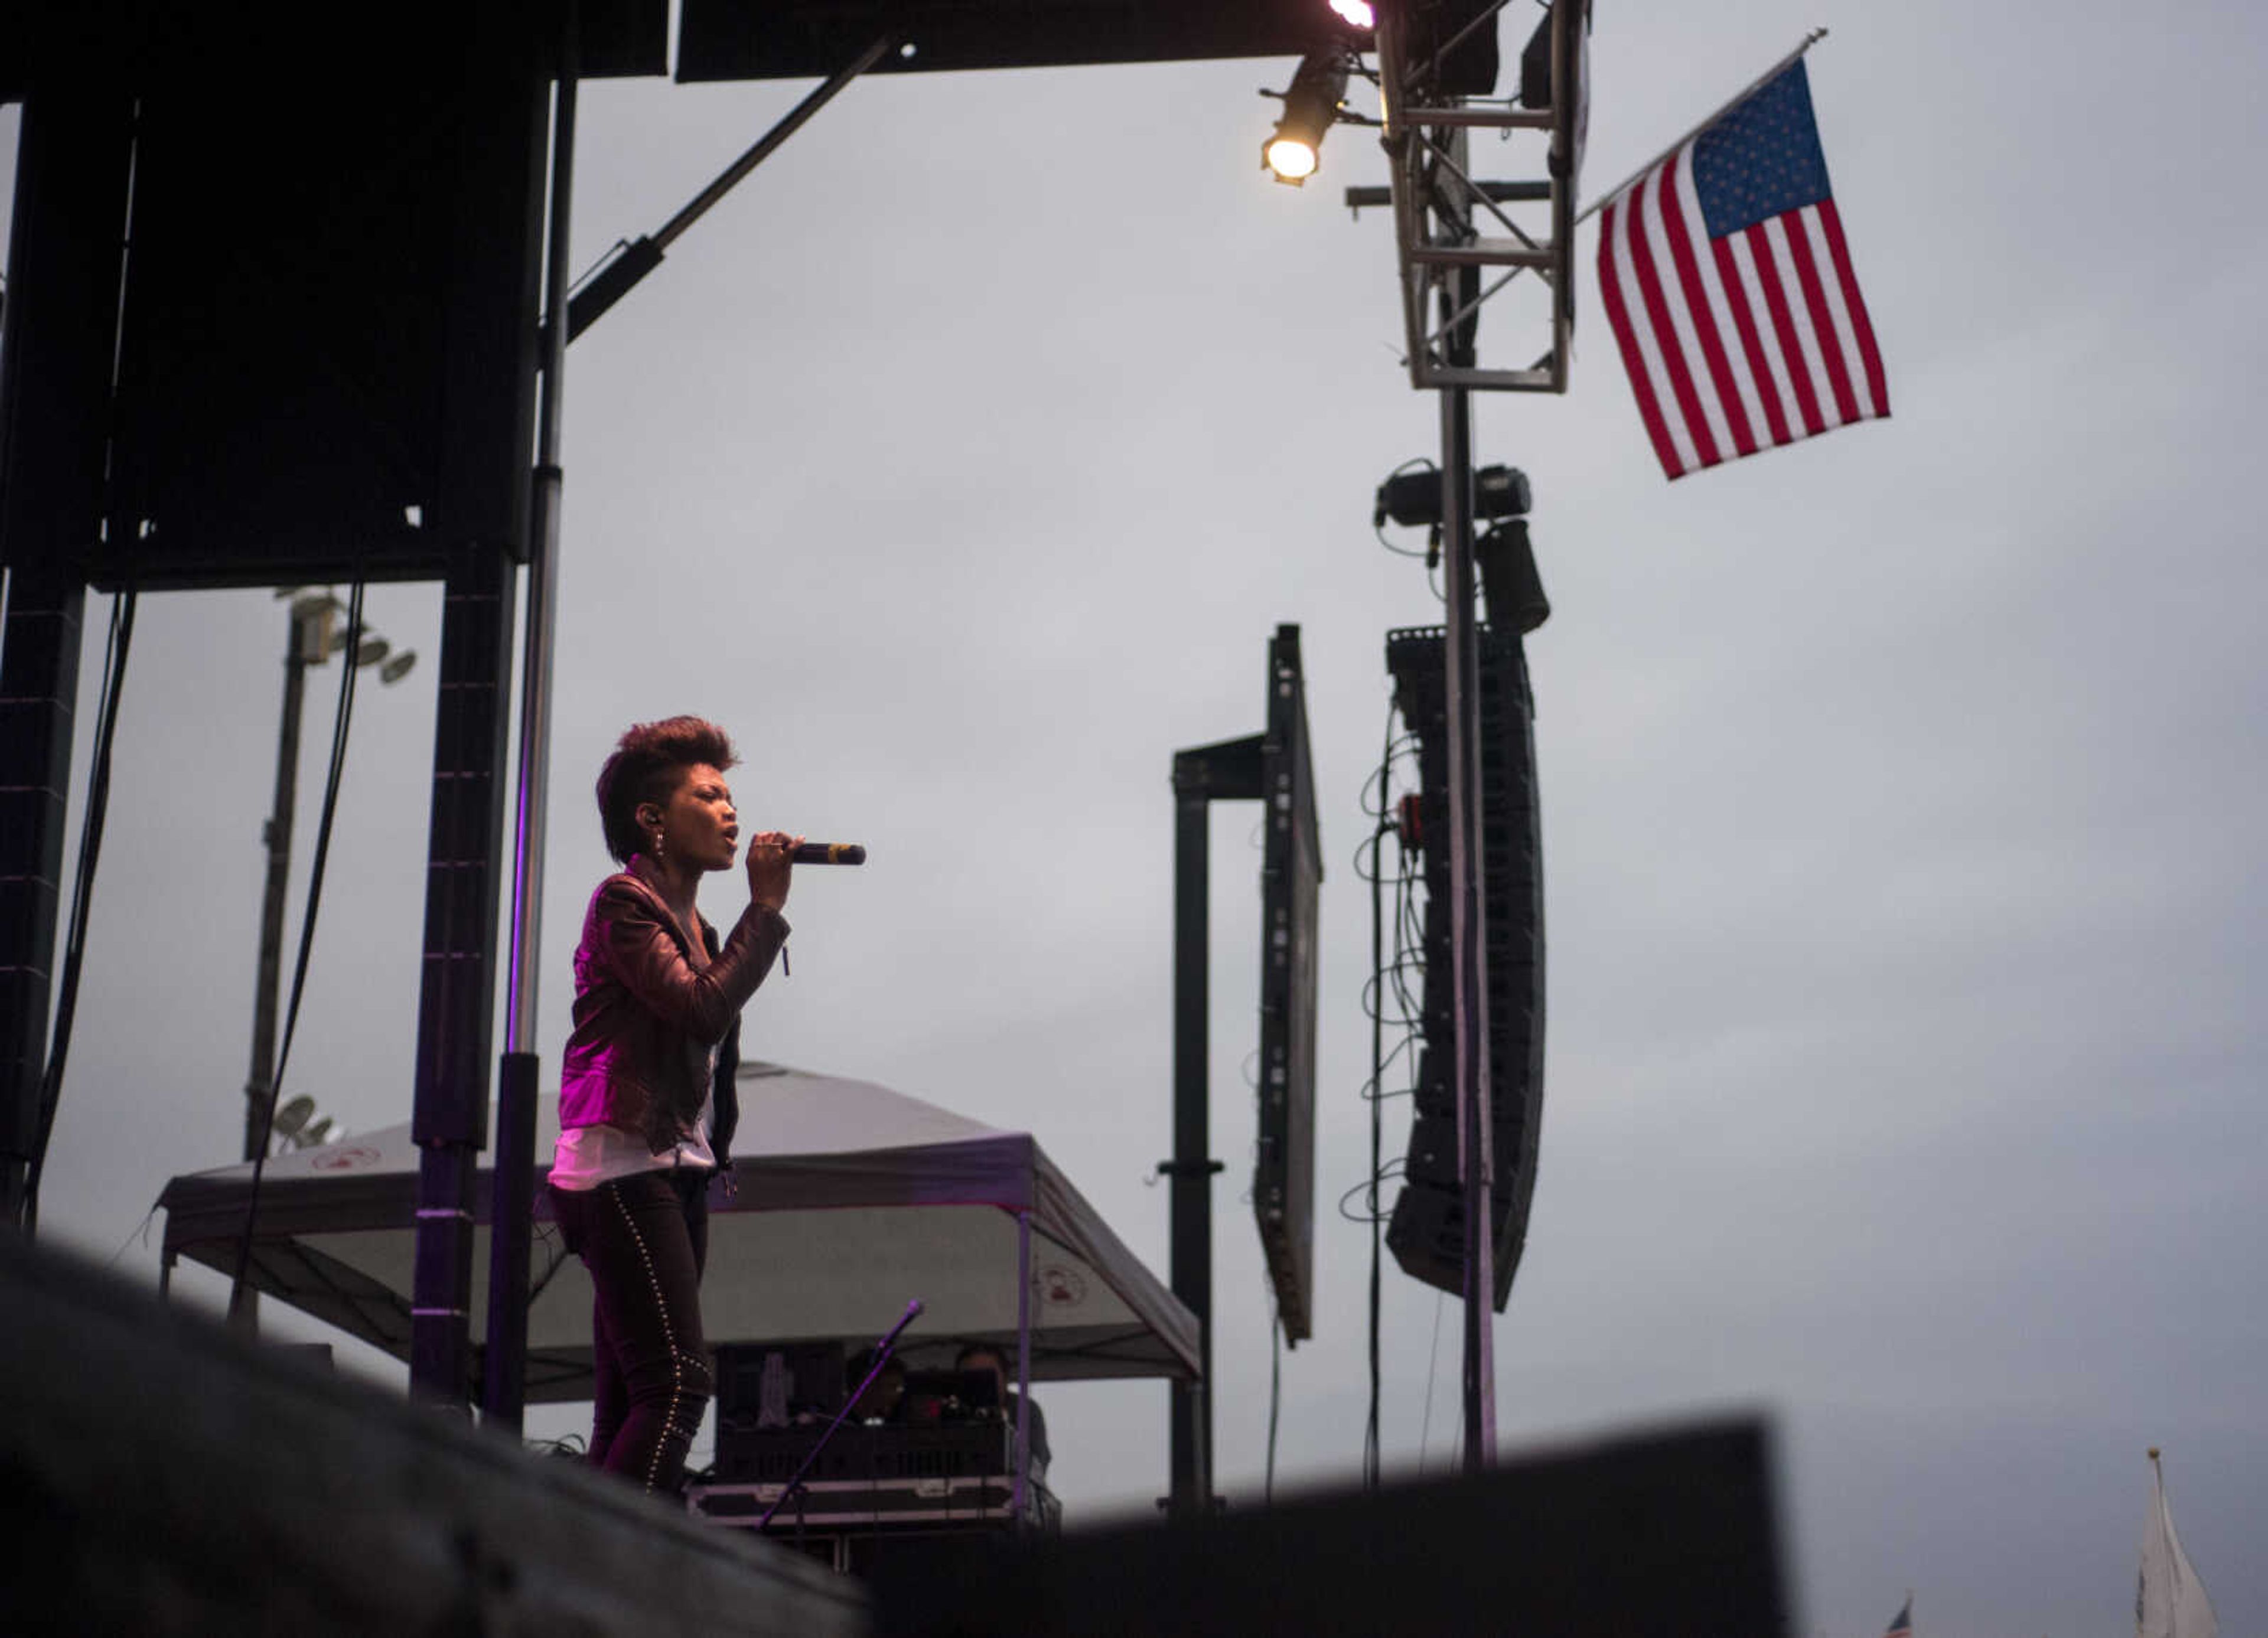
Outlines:
<svg viewBox="0 0 2268 1638"><path fill-rule="evenodd" d="M483 1422L519 1432L526 1411L528 1243L535 1209L535 1050L542 962L544 817L551 783L551 651L560 560L560 424L567 390L567 229L574 204L576 5L567 0L551 104L551 238L544 270L544 374L528 526L528 608L519 660L519 808L513 830L513 944L506 969L503 1057L497 1066L497 1148L488 1211L488 1357Z"/></svg>

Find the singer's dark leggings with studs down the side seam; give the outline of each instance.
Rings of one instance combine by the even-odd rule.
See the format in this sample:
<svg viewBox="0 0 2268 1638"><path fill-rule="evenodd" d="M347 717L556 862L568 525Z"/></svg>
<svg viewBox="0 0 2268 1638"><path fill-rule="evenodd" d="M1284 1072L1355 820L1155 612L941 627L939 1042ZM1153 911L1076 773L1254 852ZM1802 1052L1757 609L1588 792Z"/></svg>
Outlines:
<svg viewBox="0 0 2268 1638"><path fill-rule="evenodd" d="M644 1171L553 1189L567 1250L592 1284L590 1459L646 1491L676 1491L710 1395L701 1336L705 1168Z"/></svg>

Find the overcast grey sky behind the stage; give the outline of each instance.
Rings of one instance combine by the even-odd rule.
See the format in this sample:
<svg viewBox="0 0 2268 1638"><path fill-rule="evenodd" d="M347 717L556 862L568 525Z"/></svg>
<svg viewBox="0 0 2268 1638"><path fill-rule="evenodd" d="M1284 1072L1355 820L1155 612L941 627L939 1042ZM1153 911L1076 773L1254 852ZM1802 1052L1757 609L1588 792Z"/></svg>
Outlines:
<svg viewBox="0 0 2268 1638"><path fill-rule="evenodd" d="M1765 1407L1799 1631L1878 1633L1914 1588L1930 1638L2109 1638L2159 1443L2223 1631L2261 1631L2268 229L2241 177L2268 23L1601 0L1585 193L1814 23L1894 417L1665 483L1588 231L1572 392L1476 411L1481 458L1533 476L1556 610L1531 640L1551 1025L1504 1445ZM606 869L596 762L628 721L712 715L746 821L873 848L796 883L796 971L751 1050L1036 1132L1163 1275L1170 758L1261 728L1266 638L1300 622L1325 1216L1279 1481L1325 1481L1363 1420L1368 1232L1329 1214L1368 1171L1359 796L1383 633L1438 617L1370 490L1438 433L1395 363L1390 222L1338 206L1386 179L1377 147L1340 129L1304 191L1256 170L1254 88L1288 68L853 86L576 345L542 1050ZM587 86L576 265L801 91ZM9 166L14 138L9 111ZM1483 356L1533 358L1526 324L1490 318ZM433 588L370 610L431 658ZM141 610L43 1227L143 1275L166 1177L236 1155L281 644L265 592ZM98 660L91 638L88 683ZM431 733L431 665L361 696L293 1064L356 1130L408 1114ZM1256 835L1216 810L1238 1502L1268 1400ZM714 919L737 905L712 885ZM1449 1461L1454 1357L1456 1307L1388 1266L1395 1466ZM1046 1402L1070 1515L1148 1509L1163 1388Z"/></svg>

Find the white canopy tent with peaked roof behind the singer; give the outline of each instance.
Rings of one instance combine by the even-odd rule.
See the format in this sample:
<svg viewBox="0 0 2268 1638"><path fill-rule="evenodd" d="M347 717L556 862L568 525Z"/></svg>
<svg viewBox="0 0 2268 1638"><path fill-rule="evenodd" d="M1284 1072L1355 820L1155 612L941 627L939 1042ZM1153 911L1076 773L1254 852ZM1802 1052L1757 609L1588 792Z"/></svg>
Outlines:
<svg viewBox="0 0 2268 1638"><path fill-rule="evenodd" d="M946 1363L968 1341L1014 1363L1018 1270L1030 1375L1195 1377L1198 1320L1055 1168L1002 1132L864 1080L742 1064L737 1189L710 1189L701 1316L712 1345L875 1341L921 1298L900 1352ZM558 1105L538 1112L538 1182ZM479 1182L472 1336L485 1334L490 1162ZM166 1270L234 1273L249 1162L166 1184ZM417 1146L408 1125L268 1162L252 1284L397 1359L411 1343ZM535 1193L528 1400L590 1398L590 1280ZM479 1370L479 1366L476 1366Z"/></svg>

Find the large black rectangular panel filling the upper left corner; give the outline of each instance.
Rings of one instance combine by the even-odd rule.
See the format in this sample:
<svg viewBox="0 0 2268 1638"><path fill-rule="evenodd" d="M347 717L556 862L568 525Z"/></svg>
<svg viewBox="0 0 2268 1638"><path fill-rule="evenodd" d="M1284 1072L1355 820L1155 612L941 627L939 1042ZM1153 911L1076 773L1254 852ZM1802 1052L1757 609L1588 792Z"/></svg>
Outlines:
<svg viewBox="0 0 2268 1638"><path fill-rule="evenodd" d="M102 225L125 265L100 370L27 386L107 399L100 515L16 531L11 563L188 588L524 554L556 7L401 0L358 34L281 0L98 16L104 75L50 43L34 102L129 98ZM20 188L91 186L75 163L27 145L57 175Z"/></svg>

